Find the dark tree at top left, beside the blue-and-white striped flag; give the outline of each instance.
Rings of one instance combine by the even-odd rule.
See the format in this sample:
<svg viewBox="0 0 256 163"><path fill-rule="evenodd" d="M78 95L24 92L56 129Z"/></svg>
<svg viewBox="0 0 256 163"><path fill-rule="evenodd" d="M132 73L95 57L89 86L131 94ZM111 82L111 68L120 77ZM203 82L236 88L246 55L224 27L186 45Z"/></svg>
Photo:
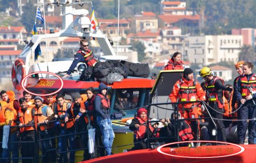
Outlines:
<svg viewBox="0 0 256 163"><path fill-rule="evenodd" d="M22 19L20 20L25 26L27 32L31 32L35 22L36 7L34 5L26 5L23 7Z"/></svg>

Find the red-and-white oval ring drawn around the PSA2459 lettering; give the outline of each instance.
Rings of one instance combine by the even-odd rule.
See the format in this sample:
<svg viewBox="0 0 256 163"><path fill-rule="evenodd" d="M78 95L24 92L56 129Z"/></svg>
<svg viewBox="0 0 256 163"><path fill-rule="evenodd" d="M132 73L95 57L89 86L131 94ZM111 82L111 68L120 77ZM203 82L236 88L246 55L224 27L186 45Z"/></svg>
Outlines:
<svg viewBox="0 0 256 163"><path fill-rule="evenodd" d="M38 74L38 73L46 73L46 74L50 74L50 75L53 75L53 76L57 77L57 78L60 80L60 83L61 83L60 88L59 88L57 91L55 91L55 92L53 92L53 93L49 93L49 94L36 94L36 93L33 93L33 92L28 91L28 90L25 88L25 86L24 86L25 80L26 80L29 76L34 75L34 74ZM33 73L28 74L27 76L25 76L25 77L22 79L22 88L23 88L26 92L28 92L28 93L30 93L30 94L32 94L32 95L35 95L35 96L50 96L50 95L53 95L53 94L59 92L59 91L62 89L62 87L63 87L63 80L62 80L62 78L59 77L58 75L56 75L55 73L52 73L52 72L47 72L47 71L33 72Z"/></svg>

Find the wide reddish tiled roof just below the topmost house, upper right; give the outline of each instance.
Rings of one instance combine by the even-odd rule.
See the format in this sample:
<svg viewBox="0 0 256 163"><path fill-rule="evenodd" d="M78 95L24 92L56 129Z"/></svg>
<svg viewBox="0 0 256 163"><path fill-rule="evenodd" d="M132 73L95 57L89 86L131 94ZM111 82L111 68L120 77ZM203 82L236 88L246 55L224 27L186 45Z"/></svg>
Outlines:
<svg viewBox="0 0 256 163"><path fill-rule="evenodd" d="M182 19L198 20L198 21L200 20L199 15L158 15L158 17L159 19L168 23L175 23Z"/></svg>

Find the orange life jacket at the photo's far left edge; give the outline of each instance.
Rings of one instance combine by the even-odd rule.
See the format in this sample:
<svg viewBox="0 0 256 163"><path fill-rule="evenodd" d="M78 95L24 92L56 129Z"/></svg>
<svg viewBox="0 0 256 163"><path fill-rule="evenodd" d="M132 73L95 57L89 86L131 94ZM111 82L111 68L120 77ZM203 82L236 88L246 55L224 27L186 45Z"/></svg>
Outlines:
<svg viewBox="0 0 256 163"><path fill-rule="evenodd" d="M3 101L1 101L1 104L4 103ZM9 110L12 112L12 122L11 122L11 126L16 126L16 118L17 118L17 111L15 110L15 108L13 108L11 106L10 103L5 103L4 105L2 105L2 110L0 111L0 122L3 123L5 122L5 111Z"/></svg>

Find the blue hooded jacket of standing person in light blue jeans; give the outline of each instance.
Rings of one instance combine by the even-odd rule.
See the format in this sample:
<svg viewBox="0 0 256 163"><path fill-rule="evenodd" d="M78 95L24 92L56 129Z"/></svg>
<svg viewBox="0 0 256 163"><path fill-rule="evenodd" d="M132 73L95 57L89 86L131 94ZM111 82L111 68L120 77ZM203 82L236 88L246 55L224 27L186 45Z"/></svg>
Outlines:
<svg viewBox="0 0 256 163"><path fill-rule="evenodd" d="M104 83L100 83L99 93L101 93L101 91L103 89L106 89L106 95L107 95L108 94L108 87ZM106 97L106 95L105 95L105 97ZM110 118L110 110L104 110L103 108L101 108L101 98L98 95L94 99L94 108L95 108L97 116L101 116L104 119Z"/></svg>

